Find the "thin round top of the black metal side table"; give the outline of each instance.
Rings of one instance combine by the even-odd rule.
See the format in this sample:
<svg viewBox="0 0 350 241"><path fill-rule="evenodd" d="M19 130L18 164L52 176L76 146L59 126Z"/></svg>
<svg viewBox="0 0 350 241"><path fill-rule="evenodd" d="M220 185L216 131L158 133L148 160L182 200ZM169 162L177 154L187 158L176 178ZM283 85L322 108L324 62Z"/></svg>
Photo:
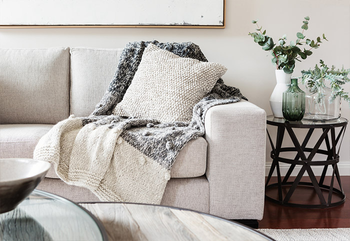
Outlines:
<svg viewBox="0 0 350 241"><path fill-rule="evenodd" d="M277 118L273 115L266 116L266 122L270 125L295 127L295 128L329 128L339 127L347 124L347 119L340 117L338 119L330 120L308 120L301 119L299 121L289 121L284 118Z"/></svg>

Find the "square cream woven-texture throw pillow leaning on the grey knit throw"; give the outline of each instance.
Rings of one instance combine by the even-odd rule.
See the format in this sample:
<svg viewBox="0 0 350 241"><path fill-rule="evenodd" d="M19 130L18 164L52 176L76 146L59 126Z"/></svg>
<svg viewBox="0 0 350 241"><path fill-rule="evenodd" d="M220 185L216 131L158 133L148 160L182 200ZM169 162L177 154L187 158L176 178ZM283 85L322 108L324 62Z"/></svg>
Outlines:
<svg viewBox="0 0 350 241"><path fill-rule="evenodd" d="M149 43L113 113L160 122L190 121L194 104L225 71L221 64L183 58Z"/></svg>

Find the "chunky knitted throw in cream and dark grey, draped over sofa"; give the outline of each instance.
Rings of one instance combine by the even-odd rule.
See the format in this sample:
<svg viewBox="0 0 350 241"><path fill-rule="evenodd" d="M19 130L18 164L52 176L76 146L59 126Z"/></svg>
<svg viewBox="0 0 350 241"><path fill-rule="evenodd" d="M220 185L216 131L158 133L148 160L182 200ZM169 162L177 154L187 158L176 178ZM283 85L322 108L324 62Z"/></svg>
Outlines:
<svg viewBox="0 0 350 241"><path fill-rule="evenodd" d="M159 204L178 152L189 140L204 134L206 110L244 98L239 89L219 79L211 93L194 106L190 123L110 115L129 86L148 43L127 44L108 90L93 113L60 121L34 150L34 158L53 163L64 182L86 187L102 201ZM191 42L152 43L182 57L207 61Z"/></svg>

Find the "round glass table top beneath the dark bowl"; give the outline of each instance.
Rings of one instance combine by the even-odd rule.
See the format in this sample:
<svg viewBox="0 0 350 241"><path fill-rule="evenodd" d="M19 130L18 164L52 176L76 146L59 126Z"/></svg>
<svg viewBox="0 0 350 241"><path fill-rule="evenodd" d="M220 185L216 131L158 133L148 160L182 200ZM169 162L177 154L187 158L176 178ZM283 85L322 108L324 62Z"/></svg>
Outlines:
<svg viewBox="0 0 350 241"><path fill-rule="evenodd" d="M107 240L104 227L89 211L36 189L0 214L0 230L0 240Z"/></svg>

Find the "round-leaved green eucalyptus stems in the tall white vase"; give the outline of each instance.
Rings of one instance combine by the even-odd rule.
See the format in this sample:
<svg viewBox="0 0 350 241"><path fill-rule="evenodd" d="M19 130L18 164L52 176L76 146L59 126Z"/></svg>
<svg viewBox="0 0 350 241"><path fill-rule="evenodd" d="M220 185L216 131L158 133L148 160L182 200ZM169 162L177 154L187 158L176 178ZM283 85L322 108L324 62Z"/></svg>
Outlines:
<svg viewBox="0 0 350 241"><path fill-rule="evenodd" d="M307 56L312 54L310 51L312 48L318 48L321 40L326 40L324 33L322 37L317 37L315 40L305 38L304 30L308 29L308 16L304 17L302 21L301 32L296 33L297 39L295 41L291 40L289 45L286 45L287 37L284 34L278 39L278 44L273 42L273 39L266 35L266 30L261 32L262 26L257 24L258 20L252 20L251 22L256 24L256 30L259 32L249 32L249 35L253 37L254 42L258 43L263 50L270 51L273 56L271 62L276 65L277 69L283 69L286 73L292 73L295 67L295 60L301 61L300 59L306 59ZM309 46L309 49L303 48L301 50L298 46Z"/></svg>

